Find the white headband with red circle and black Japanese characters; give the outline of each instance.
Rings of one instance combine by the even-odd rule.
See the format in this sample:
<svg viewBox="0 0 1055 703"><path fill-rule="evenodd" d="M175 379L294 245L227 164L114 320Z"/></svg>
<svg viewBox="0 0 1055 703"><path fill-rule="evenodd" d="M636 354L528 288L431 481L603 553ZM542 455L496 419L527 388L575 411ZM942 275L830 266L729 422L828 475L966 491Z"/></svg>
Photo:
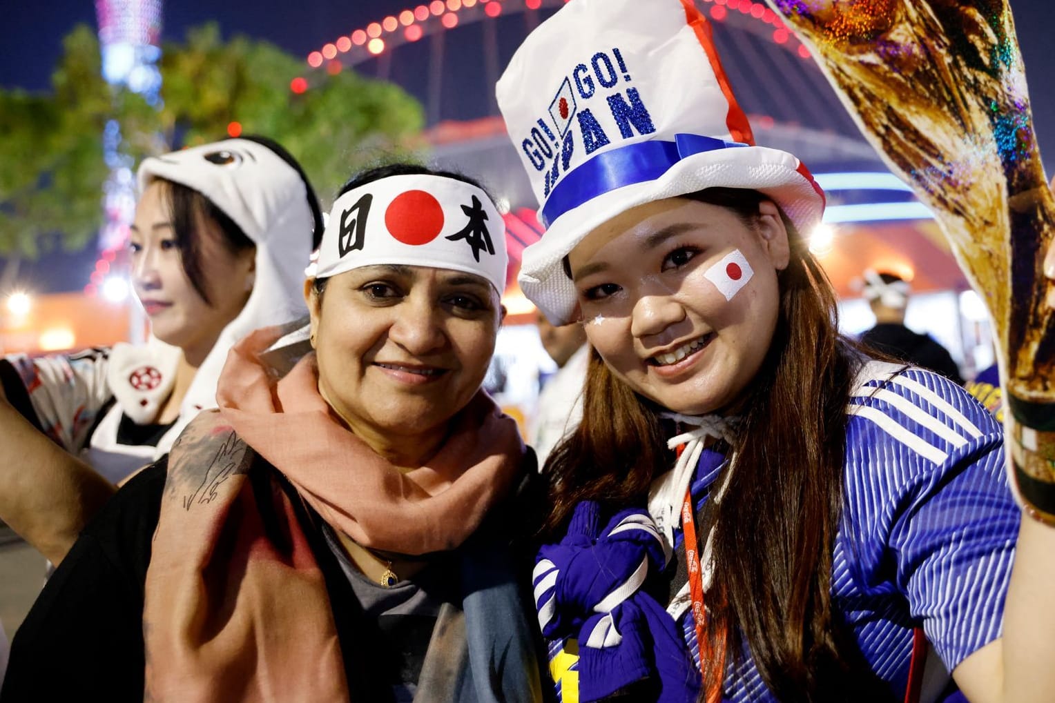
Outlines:
<svg viewBox="0 0 1055 703"><path fill-rule="evenodd" d="M333 202L314 275L425 266L476 274L501 295L506 261L505 222L486 193L454 178L413 174L380 178Z"/></svg>

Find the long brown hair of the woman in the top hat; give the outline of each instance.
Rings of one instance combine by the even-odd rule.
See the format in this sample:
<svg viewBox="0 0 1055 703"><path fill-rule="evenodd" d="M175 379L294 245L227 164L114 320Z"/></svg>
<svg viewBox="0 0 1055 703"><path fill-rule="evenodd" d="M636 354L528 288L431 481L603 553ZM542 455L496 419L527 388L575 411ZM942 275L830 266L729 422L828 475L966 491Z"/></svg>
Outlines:
<svg viewBox="0 0 1055 703"><path fill-rule="evenodd" d="M748 227L767 199L725 188L684 197L728 208ZM830 595L846 404L859 356L839 334L824 271L790 220L784 222L791 256L779 275L776 328L746 391L727 488L721 502L707 502L698 530L714 527L708 638L712 651L733 657L746 642L780 700L893 700ZM582 423L546 464L553 511L545 532L555 533L582 499L613 507L644 501L672 461L658 410L592 353ZM725 645L720 632L732 634ZM724 670L712 663L706 680L721 683Z"/></svg>

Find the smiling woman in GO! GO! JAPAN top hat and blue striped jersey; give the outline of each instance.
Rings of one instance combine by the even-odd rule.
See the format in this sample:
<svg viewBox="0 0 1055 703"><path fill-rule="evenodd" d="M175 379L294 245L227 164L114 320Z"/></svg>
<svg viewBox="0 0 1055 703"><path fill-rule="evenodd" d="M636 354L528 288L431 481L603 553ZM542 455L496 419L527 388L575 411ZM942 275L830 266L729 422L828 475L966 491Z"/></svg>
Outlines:
<svg viewBox="0 0 1055 703"><path fill-rule="evenodd" d="M1055 700L1055 530L960 387L839 334L824 194L694 4L568 3L498 98L548 226L521 288L594 350L534 573L563 700Z"/></svg>

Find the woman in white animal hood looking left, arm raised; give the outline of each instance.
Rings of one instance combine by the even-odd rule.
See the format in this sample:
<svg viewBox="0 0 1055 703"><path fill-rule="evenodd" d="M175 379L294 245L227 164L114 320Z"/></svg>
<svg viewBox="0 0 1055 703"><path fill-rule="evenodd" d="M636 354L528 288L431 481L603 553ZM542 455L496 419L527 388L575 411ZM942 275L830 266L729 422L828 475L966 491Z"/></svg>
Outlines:
<svg viewBox="0 0 1055 703"><path fill-rule="evenodd" d="M215 407L231 345L303 314L322 233L300 164L268 139L148 158L138 179L130 261L151 339L0 359L0 518L56 563L114 484Z"/></svg>

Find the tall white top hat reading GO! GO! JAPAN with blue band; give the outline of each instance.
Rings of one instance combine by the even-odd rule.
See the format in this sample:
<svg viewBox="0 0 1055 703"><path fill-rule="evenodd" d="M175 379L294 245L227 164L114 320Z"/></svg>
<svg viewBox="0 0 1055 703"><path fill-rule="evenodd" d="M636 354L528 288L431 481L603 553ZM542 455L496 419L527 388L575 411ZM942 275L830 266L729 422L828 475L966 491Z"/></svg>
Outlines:
<svg viewBox="0 0 1055 703"><path fill-rule="evenodd" d="M754 145L690 0L573 0L529 35L497 95L548 228L520 287L555 324L575 307L562 259L638 204L744 188L800 231L820 222L823 191L791 154Z"/></svg>

